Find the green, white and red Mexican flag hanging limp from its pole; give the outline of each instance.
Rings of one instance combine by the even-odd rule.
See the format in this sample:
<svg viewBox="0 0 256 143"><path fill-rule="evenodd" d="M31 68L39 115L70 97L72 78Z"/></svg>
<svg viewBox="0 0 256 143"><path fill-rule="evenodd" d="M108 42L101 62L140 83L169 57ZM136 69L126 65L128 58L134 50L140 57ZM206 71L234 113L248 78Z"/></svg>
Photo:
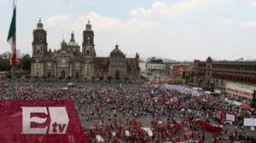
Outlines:
<svg viewBox="0 0 256 143"><path fill-rule="evenodd" d="M7 42L10 44L13 53L13 57L11 59L12 66L16 66L16 7L9 27Z"/></svg>

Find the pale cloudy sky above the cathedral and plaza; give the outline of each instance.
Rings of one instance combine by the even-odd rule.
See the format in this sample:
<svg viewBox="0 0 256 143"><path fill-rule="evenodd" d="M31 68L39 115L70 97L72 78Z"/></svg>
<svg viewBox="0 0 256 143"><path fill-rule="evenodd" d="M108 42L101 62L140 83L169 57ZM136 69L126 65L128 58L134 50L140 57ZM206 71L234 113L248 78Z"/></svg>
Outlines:
<svg viewBox="0 0 256 143"><path fill-rule="evenodd" d="M17 0L16 0L17 1ZM12 0L0 1L0 53L6 42ZM32 54L32 31L41 18L49 49L63 37L82 44L90 20L97 56L119 44L128 57L172 60L256 59L256 0L18 0L17 49Z"/></svg>

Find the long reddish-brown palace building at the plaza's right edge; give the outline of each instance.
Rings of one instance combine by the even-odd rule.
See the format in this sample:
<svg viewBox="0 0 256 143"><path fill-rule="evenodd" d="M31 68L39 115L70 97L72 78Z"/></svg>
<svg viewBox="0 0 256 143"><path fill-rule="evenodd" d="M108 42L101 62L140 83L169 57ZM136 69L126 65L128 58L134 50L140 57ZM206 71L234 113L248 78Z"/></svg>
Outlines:
<svg viewBox="0 0 256 143"><path fill-rule="evenodd" d="M226 88L228 82L256 83L256 61L195 60L194 81L201 85Z"/></svg>

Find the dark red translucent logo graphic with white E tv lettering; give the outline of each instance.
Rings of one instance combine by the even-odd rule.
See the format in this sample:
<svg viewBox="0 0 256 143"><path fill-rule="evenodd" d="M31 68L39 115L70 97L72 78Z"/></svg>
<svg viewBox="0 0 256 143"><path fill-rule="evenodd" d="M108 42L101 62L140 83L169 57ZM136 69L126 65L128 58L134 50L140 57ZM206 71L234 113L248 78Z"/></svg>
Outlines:
<svg viewBox="0 0 256 143"><path fill-rule="evenodd" d="M69 100L1 100L0 142L87 142Z"/></svg>

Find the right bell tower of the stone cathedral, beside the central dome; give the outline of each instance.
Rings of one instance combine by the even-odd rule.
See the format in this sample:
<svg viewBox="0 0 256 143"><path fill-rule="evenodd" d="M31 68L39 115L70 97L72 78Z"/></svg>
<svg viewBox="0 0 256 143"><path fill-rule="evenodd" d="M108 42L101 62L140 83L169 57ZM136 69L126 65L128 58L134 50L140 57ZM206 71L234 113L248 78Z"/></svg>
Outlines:
<svg viewBox="0 0 256 143"><path fill-rule="evenodd" d="M83 55L85 57L96 57L94 49L94 31L91 30L90 21L86 25L86 29L83 33Z"/></svg>

